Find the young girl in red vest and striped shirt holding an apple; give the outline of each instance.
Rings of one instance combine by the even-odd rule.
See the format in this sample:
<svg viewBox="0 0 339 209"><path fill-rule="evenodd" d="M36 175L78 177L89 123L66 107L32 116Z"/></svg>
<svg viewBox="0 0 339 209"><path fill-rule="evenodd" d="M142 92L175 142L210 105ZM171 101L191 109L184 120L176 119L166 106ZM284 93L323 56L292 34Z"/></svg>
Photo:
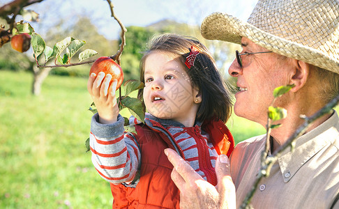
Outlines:
<svg viewBox="0 0 339 209"><path fill-rule="evenodd" d="M91 121L92 162L110 182L113 208L179 208L165 148L176 150L209 183L216 185L217 156L234 148L225 126L232 102L216 63L199 41L174 34L153 38L140 63L145 87L138 93L145 122L130 118L124 132L116 104L116 81L92 74L88 90L98 114Z"/></svg>

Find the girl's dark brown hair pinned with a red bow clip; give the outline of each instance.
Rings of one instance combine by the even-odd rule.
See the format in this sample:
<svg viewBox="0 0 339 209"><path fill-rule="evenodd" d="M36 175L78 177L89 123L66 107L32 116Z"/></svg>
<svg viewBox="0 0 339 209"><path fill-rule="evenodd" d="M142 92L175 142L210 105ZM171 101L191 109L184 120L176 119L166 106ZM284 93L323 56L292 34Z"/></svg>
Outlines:
<svg viewBox="0 0 339 209"><path fill-rule="evenodd" d="M185 65L186 57L190 54L190 47L194 45L199 49L194 66ZM155 36L149 41L148 49L140 61L140 81L144 82L144 63L147 56L154 50L178 54L193 87L199 88L202 102L197 111L197 121L204 122L211 118L218 118L227 122L232 113L232 99L229 88L220 75L216 62L209 50L199 40L179 36L176 34L163 34ZM138 98L142 100L143 89L140 89Z"/></svg>

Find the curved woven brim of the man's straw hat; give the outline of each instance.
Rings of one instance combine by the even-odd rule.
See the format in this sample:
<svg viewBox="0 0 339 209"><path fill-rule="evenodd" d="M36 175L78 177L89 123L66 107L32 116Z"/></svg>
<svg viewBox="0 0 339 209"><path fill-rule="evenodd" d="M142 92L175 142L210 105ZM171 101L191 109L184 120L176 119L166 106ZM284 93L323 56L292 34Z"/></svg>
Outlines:
<svg viewBox="0 0 339 209"><path fill-rule="evenodd" d="M236 44L240 44L241 38L246 37L271 52L339 73L338 59L329 57L312 47L266 33L248 22L232 17L232 15L223 13L209 15L202 22L201 33L204 38L209 40L223 40Z"/></svg>

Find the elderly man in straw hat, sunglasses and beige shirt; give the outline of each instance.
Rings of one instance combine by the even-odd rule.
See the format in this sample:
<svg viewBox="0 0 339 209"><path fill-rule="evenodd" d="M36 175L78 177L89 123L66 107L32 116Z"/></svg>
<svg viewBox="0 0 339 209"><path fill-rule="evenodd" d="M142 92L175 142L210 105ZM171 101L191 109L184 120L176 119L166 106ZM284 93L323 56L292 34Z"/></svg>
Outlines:
<svg viewBox="0 0 339 209"><path fill-rule="evenodd" d="M240 5L240 4L239 4ZM240 7L241 8L241 7ZM213 13L202 22L202 35L241 44L229 68L237 78L234 112L264 127L273 89L294 87L275 106L287 109L282 125L271 131L269 155L339 94L339 1L259 0L248 22ZM246 130L243 130L246 132ZM253 187L266 142L258 136L239 143L216 164L218 185L204 182L172 150L172 180L181 190L182 208L239 207ZM253 208L339 208L339 118L336 111L318 118L273 165L259 183ZM229 178L227 172L232 176Z"/></svg>

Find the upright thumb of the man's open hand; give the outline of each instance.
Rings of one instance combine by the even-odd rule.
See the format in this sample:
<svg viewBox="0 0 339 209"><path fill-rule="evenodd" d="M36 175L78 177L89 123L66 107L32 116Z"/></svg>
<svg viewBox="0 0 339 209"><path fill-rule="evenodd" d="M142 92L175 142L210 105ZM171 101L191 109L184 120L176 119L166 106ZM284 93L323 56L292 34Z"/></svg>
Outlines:
<svg viewBox="0 0 339 209"><path fill-rule="evenodd" d="M219 155L216 162L216 186L220 194L220 208L236 208L236 192L229 170L229 159L226 155Z"/></svg>

